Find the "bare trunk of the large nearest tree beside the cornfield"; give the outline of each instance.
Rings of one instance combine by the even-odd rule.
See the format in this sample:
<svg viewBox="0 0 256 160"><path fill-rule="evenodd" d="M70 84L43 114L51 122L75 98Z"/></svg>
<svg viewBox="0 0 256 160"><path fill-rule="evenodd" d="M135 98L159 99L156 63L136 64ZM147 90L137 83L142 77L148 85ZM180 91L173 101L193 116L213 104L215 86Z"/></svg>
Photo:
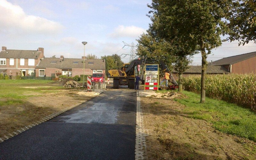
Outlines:
<svg viewBox="0 0 256 160"><path fill-rule="evenodd" d="M201 54L202 54L202 75L201 75L201 100L200 103L205 102L205 72L206 72L206 52L204 48L204 41L201 38L200 42Z"/></svg>

